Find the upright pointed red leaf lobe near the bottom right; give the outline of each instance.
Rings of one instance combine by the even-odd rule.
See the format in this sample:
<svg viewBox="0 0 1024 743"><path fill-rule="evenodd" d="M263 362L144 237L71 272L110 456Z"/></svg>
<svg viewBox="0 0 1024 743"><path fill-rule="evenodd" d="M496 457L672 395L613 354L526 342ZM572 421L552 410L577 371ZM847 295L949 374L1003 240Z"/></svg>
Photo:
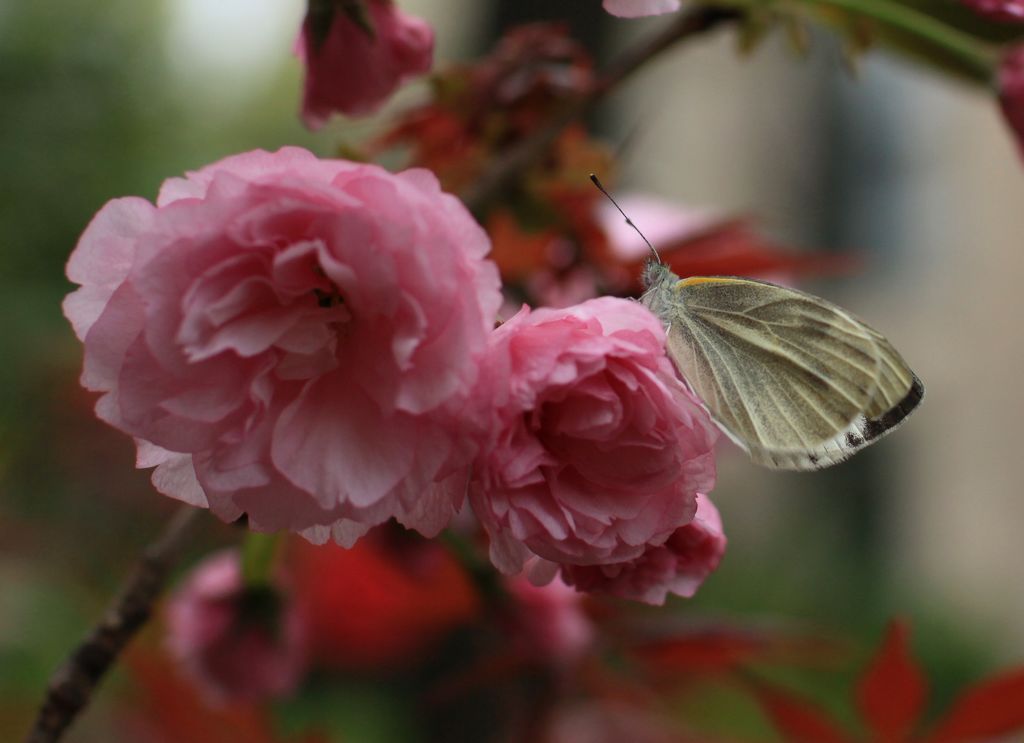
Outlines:
<svg viewBox="0 0 1024 743"><path fill-rule="evenodd" d="M909 630L892 621L857 685L857 707L878 743L907 740L928 695L928 682L910 657Z"/></svg>

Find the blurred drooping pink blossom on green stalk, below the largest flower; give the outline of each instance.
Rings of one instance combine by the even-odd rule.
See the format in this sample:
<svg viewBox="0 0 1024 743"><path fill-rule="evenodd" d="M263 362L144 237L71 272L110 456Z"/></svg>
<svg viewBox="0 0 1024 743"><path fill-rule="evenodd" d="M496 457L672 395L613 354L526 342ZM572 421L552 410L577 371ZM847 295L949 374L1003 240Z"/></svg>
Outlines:
<svg viewBox="0 0 1024 743"><path fill-rule="evenodd" d="M306 671L301 614L275 588L246 588L233 550L193 571L170 599L167 628L171 653L214 701L281 697Z"/></svg>

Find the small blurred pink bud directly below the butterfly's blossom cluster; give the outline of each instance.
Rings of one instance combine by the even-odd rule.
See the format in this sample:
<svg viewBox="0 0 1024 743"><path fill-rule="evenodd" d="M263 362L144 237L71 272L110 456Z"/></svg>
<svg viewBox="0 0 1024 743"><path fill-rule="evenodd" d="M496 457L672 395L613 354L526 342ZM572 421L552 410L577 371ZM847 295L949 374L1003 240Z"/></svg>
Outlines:
<svg viewBox="0 0 1024 743"><path fill-rule="evenodd" d="M584 595L557 576L535 585L523 575L506 581L514 605L510 630L520 651L545 663L579 660L594 642L594 624L583 608Z"/></svg>

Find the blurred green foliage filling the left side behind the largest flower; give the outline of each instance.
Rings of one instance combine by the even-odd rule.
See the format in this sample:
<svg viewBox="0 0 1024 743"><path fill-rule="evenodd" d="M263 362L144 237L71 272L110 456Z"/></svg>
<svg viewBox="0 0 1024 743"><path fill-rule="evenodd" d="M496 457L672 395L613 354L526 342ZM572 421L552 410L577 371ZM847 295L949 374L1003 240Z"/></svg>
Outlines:
<svg viewBox="0 0 1024 743"><path fill-rule="evenodd" d="M204 116L166 64L167 13L127 0L0 6L0 740L20 737L173 509L78 386L81 348L60 313L68 255L112 198L153 199L169 175L305 140L296 61Z"/></svg>

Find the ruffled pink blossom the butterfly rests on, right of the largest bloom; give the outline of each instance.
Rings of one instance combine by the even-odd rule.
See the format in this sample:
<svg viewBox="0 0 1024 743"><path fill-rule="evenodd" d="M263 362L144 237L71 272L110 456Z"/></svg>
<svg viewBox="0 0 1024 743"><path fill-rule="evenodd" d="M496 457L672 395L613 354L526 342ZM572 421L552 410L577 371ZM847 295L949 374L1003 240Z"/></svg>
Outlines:
<svg viewBox="0 0 1024 743"><path fill-rule="evenodd" d="M499 569L517 572L530 553L634 560L692 518L715 482L717 430L646 308L609 297L523 308L490 345L496 421L471 502Z"/></svg>

